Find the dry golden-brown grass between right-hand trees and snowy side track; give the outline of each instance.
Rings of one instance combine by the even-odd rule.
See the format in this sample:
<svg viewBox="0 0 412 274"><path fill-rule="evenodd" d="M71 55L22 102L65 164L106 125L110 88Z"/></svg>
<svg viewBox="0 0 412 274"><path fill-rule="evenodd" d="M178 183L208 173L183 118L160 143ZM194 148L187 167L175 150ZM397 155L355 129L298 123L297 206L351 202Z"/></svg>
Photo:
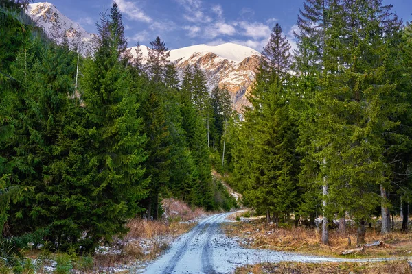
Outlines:
<svg viewBox="0 0 412 274"><path fill-rule="evenodd" d="M267 224L264 218L244 221L239 215L234 216L234 219L238 222L226 224L225 232L228 236L237 237L240 245L244 247L294 251L319 256L339 256L341 251L356 247L356 227L347 227L345 235L340 234L337 229L330 229L329 245L322 245L321 229L290 225L276 227L273 223ZM364 251L347 255L345 258L411 256L412 254L412 234L391 232L382 236L376 229L367 229L365 240L369 243L379 240L384 244L365 248Z"/></svg>

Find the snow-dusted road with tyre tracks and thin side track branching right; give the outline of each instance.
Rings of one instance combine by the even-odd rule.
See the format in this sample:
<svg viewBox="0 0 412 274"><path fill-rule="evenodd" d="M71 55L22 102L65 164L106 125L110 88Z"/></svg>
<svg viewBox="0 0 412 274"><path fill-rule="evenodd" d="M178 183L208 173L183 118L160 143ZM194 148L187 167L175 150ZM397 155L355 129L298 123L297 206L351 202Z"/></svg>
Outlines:
<svg viewBox="0 0 412 274"><path fill-rule="evenodd" d="M227 221L226 218L229 214L232 213L209 216L198 223L190 232L176 240L161 258L149 264L143 273L233 273L238 266L260 262L376 262L393 260L393 258L351 260L246 249L240 247L233 238L225 236L220 229L220 223Z"/></svg>

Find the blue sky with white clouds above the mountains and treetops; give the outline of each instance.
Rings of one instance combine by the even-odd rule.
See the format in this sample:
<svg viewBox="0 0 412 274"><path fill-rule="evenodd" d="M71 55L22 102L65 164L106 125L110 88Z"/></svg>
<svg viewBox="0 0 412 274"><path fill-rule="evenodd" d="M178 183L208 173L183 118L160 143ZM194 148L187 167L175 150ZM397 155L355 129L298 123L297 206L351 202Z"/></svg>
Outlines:
<svg viewBox="0 0 412 274"><path fill-rule="evenodd" d="M49 0L88 32L103 6L112 0ZM169 49L190 45L236 42L258 51L266 45L271 28L279 23L292 37L303 0L115 0L123 14L129 46L149 45L160 36ZM404 21L412 20L412 0L384 0L393 4Z"/></svg>

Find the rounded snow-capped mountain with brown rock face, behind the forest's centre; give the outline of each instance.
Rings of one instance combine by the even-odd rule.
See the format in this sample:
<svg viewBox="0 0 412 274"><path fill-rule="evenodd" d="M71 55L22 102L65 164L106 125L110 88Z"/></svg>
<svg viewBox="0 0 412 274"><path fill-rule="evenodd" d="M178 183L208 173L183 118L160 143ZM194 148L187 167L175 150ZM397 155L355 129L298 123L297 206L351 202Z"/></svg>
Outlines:
<svg viewBox="0 0 412 274"><path fill-rule="evenodd" d="M135 48L130 48L132 55L135 55ZM142 45L140 49L143 58L148 58L148 47ZM250 105L247 93L255 80L259 56L260 53L250 47L225 43L218 46L194 45L172 49L169 60L175 64L182 76L186 66L197 64L205 72L209 89L216 85L226 86L233 108L242 112L243 105Z"/></svg>

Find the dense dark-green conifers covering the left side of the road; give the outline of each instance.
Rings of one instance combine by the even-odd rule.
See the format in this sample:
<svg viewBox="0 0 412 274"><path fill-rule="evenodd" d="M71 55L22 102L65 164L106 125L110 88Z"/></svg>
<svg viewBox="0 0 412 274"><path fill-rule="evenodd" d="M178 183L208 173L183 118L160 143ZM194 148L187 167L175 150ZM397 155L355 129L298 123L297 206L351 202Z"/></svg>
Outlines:
<svg viewBox="0 0 412 274"><path fill-rule="evenodd" d="M51 33L61 45L46 38L25 5L3 1L0 10L2 236L87 253L135 216L159 219L165 197L236 206L211 176L233 120L227 90L209 95L196 67L180 84L159 37L148 64L132 59L116 3L100 14L87 57L58 21Z"/></svg>

